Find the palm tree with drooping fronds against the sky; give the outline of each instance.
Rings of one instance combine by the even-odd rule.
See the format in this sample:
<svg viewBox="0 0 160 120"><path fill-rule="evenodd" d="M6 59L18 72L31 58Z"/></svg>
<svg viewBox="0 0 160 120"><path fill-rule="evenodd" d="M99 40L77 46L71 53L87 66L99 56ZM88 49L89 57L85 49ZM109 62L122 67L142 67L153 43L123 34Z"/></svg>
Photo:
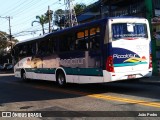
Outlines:
<svg viewBox="0 0 160 120"><path fill-rule="evenodd" d="M43 32L43 35L44 35L44 24L48 22L48 17L45 16L45 15L41 15L41 16L36 16L36 19L38 20L35 20L32 22L32 26L33 26L33 23L37 22L39 23L41 26L42 26L42 32Z"/></svg>

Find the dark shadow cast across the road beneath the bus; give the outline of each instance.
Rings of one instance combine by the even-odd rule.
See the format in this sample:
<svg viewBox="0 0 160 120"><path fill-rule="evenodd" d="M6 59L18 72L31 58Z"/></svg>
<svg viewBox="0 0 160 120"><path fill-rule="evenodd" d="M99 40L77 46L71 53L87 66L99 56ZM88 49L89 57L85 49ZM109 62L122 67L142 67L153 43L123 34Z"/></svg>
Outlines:
<svg viewBox="0 0 160 120"><path fill-rule="evenodd" d="M160 99L160 82L119 81L105 84L68 84L60 88L55 82L30 80L24 82L12 76L0 76L0 104L22 101L39 101L77 98L92 94L121 94Z"/></svg>

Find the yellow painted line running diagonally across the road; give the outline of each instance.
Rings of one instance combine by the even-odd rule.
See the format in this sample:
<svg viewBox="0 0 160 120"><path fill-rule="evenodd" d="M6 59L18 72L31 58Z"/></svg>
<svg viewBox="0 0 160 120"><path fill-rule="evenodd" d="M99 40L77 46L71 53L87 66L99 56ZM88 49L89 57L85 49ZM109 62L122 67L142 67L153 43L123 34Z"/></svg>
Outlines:
<svg viewBox="0 0 160 120"><path fill-rule="evenodd" d="M6 83L15 84L15 85L21 85L21 83L17 83L17 82L15 83L15 82L6 81ZM23 85L27 85L27 84L23 84ZM33 87L33 88L36 88L36 89L41 89L41 90L49 90L49 91L53 91L53 92L56 91L56 92L67 93L67 94L87 96L87 97L101 99L101 100L118 101L118 102L124 102L124 103L131 103L131 104L136 104L136 105L143 105L143 106L160 108L160 103L158 103L158 102L150 102L150 101L143 101L143 100L136 100L136 99L128 99L128 98L111 96L111 95L92 94L92 93L86 93L86 92L67 90L67 89L64 89L64 88L49 88L49 87L45 87L45 86L42 86L42 85L41 86L27 85L27 86Z"/></svg>

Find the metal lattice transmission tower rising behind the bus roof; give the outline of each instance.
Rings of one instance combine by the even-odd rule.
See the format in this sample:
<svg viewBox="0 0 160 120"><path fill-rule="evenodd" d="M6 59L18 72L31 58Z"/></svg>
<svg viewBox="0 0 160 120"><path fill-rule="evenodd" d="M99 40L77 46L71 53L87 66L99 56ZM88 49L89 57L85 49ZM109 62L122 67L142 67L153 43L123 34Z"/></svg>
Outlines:
<svg viewBox="0 0 160 120"><path fill-rule="evenodd" d="M76 13L74 10L73 0L64 0L65 3L65 27L78 25Z"/></svg>

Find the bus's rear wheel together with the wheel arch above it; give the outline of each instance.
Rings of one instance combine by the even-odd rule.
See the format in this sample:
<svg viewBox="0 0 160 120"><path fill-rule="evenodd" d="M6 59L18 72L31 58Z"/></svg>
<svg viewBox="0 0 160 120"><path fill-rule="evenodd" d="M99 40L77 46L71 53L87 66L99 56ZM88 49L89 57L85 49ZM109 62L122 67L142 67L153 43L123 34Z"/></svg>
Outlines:
<svg viewBox="0 0 160 120"><path fill-rule="evenodd" d="M66 74L62 68L56 70L56 82L61 87L66 85Z"/></svg>

